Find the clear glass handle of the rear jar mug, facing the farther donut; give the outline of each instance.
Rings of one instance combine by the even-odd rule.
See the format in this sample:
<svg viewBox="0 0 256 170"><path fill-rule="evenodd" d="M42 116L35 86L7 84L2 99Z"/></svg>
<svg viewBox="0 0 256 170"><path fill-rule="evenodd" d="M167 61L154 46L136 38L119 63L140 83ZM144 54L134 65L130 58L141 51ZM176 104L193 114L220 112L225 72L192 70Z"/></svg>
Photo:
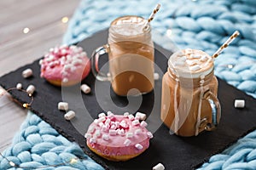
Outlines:
<svg viewBox="0 0 256 170"><path fill-rule="evenodd" d="M96 48L96 50L91 55L91 70L93 75L99 81L110 81L110 77L108 77L108 74L103 73L99 69L99 59L102 56L102 54L108 54L108 49L108 44L103 45L102 47Z"/></svg>

